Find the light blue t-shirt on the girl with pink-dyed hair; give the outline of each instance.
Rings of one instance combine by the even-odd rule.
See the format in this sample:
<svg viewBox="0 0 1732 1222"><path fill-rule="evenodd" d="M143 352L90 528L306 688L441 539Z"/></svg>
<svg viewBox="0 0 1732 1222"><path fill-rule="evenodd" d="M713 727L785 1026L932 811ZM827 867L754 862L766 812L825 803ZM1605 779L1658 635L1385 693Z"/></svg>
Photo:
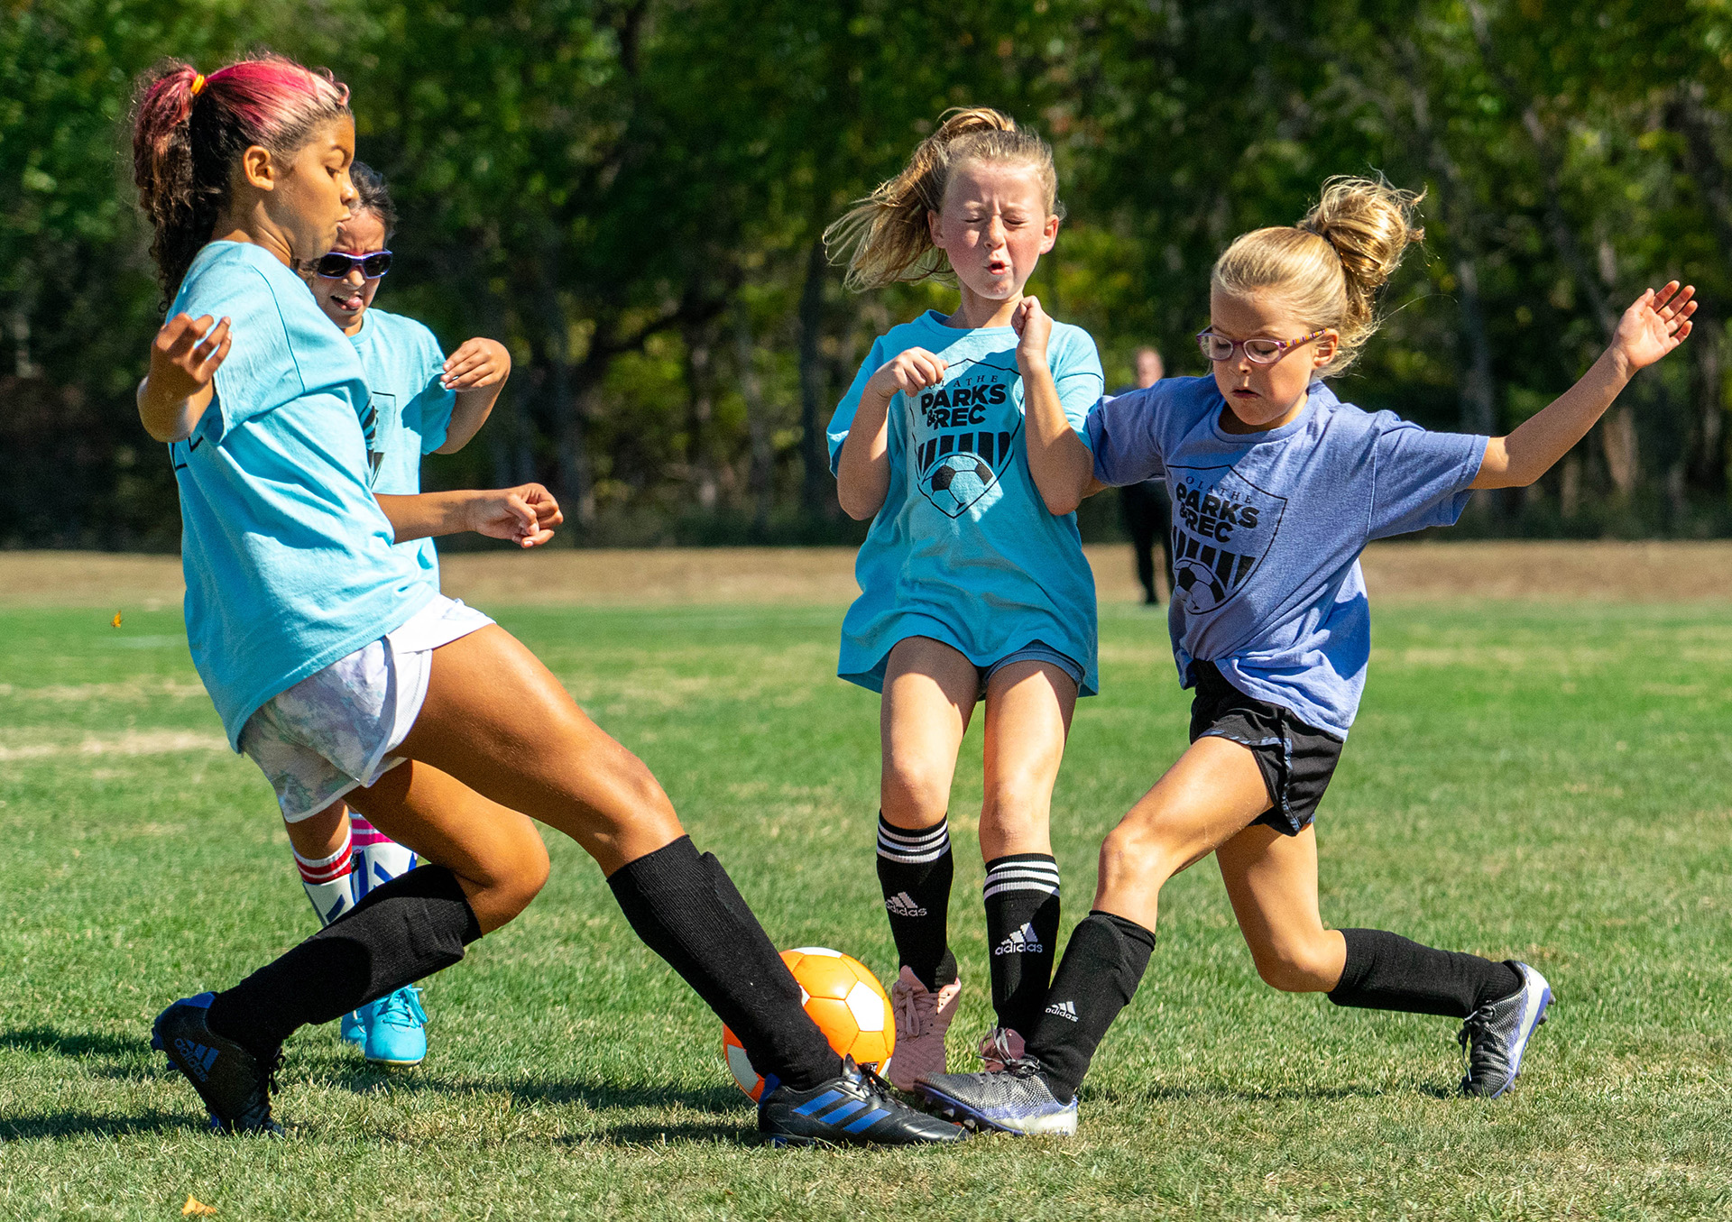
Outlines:
<svg viewBox="0 0 1732 1222"><path fill-rule="evenodd" d="M229 315L234 344L180 485L192 663L239 749L246 718L400 627L433 595L367 488L367 381L294 272L249 242L211 242L170 317Z"/></svg>

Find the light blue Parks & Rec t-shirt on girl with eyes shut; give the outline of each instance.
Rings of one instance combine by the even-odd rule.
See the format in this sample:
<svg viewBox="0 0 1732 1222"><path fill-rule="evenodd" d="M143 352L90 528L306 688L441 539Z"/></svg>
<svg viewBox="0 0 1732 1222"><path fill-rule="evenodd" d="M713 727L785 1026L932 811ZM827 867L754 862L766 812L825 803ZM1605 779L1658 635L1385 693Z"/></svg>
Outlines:
<svg viewBox="0 0 1732 1222"><path fill-rule="evenodd" d="M1041 640L1082 668L1081 694L1093 696L1095 573L1076 514L1050 514L1029 474L1015 331L946 327L928 310L880 336L830 419L831 473L866 383L909 348L949 370L944 386L890 400L890 490L854 564L861 595L842 621L838 673L883 691L890 649L908 637L942 640L977 666ZM1095 341L1055 322L1048 363L1086 441L1105 384Z"/></svg>

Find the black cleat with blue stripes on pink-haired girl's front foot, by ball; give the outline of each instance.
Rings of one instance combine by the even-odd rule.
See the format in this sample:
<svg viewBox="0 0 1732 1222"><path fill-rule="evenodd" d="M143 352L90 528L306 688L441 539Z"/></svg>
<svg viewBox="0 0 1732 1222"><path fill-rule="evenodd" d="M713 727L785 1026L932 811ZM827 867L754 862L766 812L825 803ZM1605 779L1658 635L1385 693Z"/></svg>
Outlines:
<svg viewBox="0 0 1732 1222"><path fill-rule="evenodd" d="M923 1146L968 1135L901 1103L883 1078L850 1056L842 1059L842 1077L811 1090L766 1082L759 1132L772 1146Z"/></svg>

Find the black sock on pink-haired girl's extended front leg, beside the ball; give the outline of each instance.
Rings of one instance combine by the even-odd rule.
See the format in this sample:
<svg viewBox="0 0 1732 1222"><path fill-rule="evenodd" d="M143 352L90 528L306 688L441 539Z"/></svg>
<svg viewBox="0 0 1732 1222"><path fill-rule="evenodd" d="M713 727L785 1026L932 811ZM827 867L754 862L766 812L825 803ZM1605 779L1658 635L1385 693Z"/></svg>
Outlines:
<svg viewBox="0 0 1732 1222"><path fill-rule="evenodd" d="M807 1090L842 1058L800 1009L800 985L712 853L689 836L608 876L613 898L651 950L727 1023L752 1066Z"/></svg>

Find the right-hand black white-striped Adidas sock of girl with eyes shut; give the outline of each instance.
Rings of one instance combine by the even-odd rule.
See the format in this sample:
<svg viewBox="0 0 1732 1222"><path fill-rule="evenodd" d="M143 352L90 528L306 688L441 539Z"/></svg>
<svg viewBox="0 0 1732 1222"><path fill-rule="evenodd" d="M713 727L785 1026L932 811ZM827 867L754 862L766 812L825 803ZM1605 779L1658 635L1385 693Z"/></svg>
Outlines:
<svg viewBox="0 0 1732 1222"><path fill-rule="evenodd" d="M1058 959L1058 862L1051 853L994 857L980 898L992 949L992 1009L999 1026L1027 1040Z"/></svg>

